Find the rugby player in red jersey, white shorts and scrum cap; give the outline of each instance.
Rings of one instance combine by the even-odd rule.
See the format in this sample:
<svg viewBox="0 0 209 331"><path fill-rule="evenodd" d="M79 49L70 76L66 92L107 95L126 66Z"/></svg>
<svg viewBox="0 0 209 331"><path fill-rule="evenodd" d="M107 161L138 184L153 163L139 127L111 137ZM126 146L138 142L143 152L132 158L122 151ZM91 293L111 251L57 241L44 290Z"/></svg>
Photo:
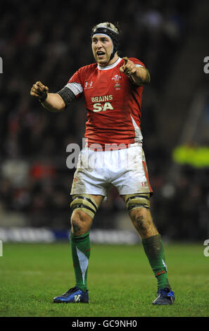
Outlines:
<svg viewBox="0 0 209 331"><path fill-rule="evenodd" d="M110 185L118 189L125 202L156 276L158 296L153 304L175 301L167 279L163 242L151 217L153 190L142 149L141 95L144 85L150 82L150 74L139 59L120 58L119 42L117 25L94 26L91 49L96 63L77 70L57 93L49 93L42 82L36 82L30 92L49 111L64 111L82 95L87 109L87 145L80 153L71 189L70 246L75 287L56 296L55 303L89 302L89 231L97 209L108 196ZM92 158L94 162L85 166ZM102 166L99 166L101 160Z"/></svg>

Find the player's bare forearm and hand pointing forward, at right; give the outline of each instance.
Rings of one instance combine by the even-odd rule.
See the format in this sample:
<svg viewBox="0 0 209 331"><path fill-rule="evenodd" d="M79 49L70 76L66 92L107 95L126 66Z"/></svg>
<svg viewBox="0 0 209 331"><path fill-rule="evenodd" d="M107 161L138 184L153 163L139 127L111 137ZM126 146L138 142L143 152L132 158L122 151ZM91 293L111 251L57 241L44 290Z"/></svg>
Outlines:
<svg viewBox="0 0 209 331"><path fill-rule="evenodd" d="M150 82L151 77L148 70L141 65L135 65L133 61L125 57L124 64L120 67L120 72L125 73L136 85L146 85Z"/></svg>

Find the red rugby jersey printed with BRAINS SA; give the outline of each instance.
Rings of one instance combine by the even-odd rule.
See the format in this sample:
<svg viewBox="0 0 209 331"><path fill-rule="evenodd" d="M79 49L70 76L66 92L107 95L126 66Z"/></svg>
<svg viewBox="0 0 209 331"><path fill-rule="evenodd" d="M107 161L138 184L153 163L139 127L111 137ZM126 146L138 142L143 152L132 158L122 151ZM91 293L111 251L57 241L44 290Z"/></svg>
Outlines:
<svg viewBox="0 0 209 331"><path fill-rule="evenodd" d="M144 67L137 58L129 58ZM72 75L66 85L79 98L84 94L87 108L85 137L87 144L132 144L142 142L141 94L139 87L120 73L124 60L103 68L98 63L86 65ZM117 148L117 147L116 147Z"/></svg>

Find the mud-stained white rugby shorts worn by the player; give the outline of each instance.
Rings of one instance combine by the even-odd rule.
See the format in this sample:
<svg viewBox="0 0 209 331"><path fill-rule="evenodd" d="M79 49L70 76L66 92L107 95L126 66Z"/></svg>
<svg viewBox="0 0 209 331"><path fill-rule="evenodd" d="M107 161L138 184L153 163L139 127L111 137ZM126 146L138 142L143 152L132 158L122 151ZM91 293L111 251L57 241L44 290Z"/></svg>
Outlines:
<svg viewBox="0 0 209 331"><path fill-rule="evenodd" d="M125 149L80 151L70 194L108 196L114 185L120 195L151 193L144 151L140 143Z"/></svg>

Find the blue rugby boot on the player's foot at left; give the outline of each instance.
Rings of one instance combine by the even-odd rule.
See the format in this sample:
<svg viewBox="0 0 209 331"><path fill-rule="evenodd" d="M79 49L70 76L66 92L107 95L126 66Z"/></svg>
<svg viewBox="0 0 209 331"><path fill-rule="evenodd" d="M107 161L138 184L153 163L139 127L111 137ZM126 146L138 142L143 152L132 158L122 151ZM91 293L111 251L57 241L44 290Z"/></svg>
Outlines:
<svg viewBox="0 0 209 331"><path fill-rule="evenodd" d="M77 304L84 303L89 304L89 293L88 291L85 293L78 287L72 287L72 289L68 289L66 293L63 293L61 296L56 296L53 298L53 302L56 304Z"/></svg>

